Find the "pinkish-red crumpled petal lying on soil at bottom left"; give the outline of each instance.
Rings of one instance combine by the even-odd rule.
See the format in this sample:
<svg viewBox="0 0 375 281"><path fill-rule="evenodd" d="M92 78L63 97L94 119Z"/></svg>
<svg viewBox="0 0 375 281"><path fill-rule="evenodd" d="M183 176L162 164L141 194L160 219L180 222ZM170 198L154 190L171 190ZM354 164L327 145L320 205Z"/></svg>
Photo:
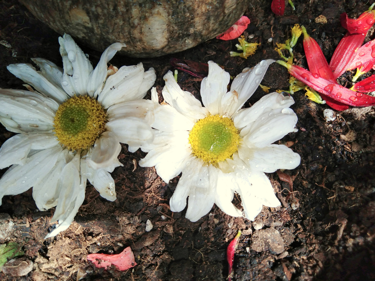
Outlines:
<svg viewBox="0 0 375 281"><path fill-rule="evenodd" d="M118 270L125 271L137 263L134 259L134 254L130 247L127 247L120 254L108 255L108 254L89 254L87 260L92 262L97 268L105 268L114 265Z"/></svg>

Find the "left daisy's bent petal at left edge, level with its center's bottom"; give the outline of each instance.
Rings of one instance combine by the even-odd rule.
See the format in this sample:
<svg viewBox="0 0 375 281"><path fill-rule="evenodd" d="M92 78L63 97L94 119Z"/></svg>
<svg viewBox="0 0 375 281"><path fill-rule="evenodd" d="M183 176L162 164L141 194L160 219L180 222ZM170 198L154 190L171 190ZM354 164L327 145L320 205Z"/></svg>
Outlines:
<svg viewBox="0 0 375 281"><path fill-rule="evenodd" d="M0 148L0 169L13 164L24 165L30 149L47 149L58 145L54 133L37 133L31 135L15 135Z"/></svg>

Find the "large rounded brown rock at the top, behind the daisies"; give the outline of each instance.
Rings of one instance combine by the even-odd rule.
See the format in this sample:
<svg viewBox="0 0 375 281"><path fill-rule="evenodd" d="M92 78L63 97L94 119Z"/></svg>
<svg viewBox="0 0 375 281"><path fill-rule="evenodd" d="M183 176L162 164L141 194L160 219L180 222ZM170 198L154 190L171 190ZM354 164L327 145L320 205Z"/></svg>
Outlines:
<svg viewBox="0 0 375 281"><path fill-rule="evenodd" d="M133 57L183 51L226 31L251 0L20 0L38 19L103 51Z"/></svg>

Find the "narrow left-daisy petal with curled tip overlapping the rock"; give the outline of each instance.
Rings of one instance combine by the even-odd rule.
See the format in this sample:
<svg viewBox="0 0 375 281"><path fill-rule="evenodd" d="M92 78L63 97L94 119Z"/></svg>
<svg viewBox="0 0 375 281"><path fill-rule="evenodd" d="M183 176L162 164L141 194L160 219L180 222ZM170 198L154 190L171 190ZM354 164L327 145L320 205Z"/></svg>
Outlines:
<svg viewBox="0 0 375 281"><path fill-rule="evenodd" d="M108 61L123 47L126 47L124 43L117 42L110 45L103 52L99 63L96 65L94 71L90 73L89 79L87 79L87 94L90 97L96 98L102 91L105 79L107 78Z"/></svg>

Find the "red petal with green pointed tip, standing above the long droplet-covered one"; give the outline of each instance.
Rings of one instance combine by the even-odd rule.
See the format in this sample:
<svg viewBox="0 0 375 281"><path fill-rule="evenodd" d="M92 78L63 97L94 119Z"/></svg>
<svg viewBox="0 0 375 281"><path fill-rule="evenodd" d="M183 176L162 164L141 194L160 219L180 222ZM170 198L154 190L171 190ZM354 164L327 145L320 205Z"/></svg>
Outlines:
<svg viewBox="0 0 375 281"><path fill-rule="evenodd" d="M337 83L317 41L305 32L303 37L303 48L305 49L309 70L312 73L318 73L319 76Z"/></svg>

